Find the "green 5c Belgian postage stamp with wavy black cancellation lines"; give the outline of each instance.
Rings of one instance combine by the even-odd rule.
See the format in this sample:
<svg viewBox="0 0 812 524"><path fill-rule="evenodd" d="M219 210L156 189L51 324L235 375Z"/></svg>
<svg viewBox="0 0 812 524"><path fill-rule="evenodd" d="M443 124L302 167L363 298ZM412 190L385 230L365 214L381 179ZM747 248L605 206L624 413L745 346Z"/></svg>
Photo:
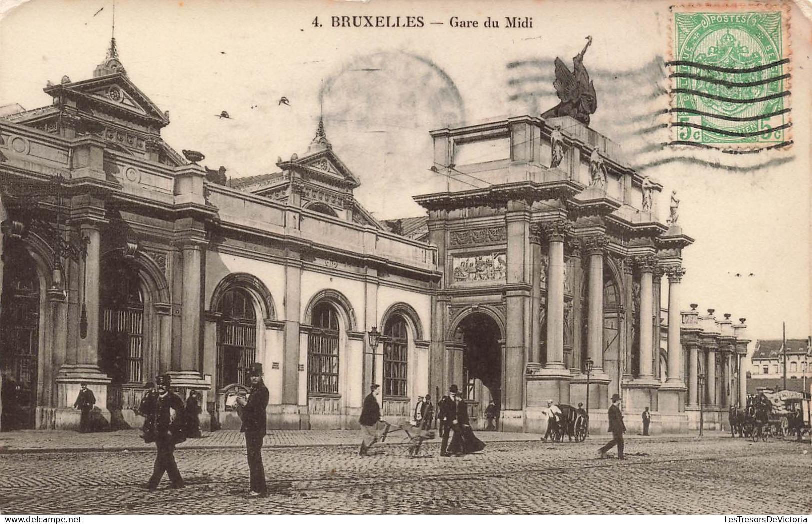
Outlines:
<svg viewBox="0 0 812 524"><path fill-rule="evenodd" d="M671 15L672 145L789 145L788 9L706 4Z"/></svg>

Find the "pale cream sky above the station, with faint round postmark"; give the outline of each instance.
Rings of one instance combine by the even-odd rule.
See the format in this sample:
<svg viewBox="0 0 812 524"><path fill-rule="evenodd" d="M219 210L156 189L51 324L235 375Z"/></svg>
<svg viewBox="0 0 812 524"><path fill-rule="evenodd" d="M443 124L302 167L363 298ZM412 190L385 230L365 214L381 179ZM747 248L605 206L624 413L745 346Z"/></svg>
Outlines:
<svg viewBox="0 0 812 524"><path fill-rule="evenodd" d="M0 0L0 105L47 106L46 81L92 77L110 43L111 0L11 5ZM129 78L169 110L162 136L176 150L201 151L203 164L234 178L275 172L278 158L305 152L322 115L335 153L361 180L357 200L391 219L422 214L411 197L445 188L429 171L431 129L555 106L552 60L571 66L589 35L584 64L598 93L590 127L663 184L660 219L677 191L680 225L695 240L684 252L685 309L747 318L754 340L780 338L782 322L788 337L809 336L810 90L795 89L810 84L809 19L792 8L792 148L652 152L669 133L657 116L668 103L667 6L118 0L115 38ZM424 27L331 27L343 15L422 17ZM455 16L480 27L453 28ZM489 16L501 27L482 28ZM532 17L533 27L504 28L506 16ZM217 117L223 110L231 119Z"/></svg>

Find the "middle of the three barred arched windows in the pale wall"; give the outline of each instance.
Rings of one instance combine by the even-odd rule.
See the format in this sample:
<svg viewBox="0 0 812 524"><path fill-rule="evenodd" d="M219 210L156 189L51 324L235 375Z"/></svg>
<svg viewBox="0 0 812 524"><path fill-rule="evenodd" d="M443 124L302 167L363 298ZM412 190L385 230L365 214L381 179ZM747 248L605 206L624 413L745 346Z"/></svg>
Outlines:
<svg viewBox="0 0 812 524"><path fill-rule="evenodd" d="M313 330L307 344L307 390L339 393L339 314L322 302L313 308Z"/></svg>

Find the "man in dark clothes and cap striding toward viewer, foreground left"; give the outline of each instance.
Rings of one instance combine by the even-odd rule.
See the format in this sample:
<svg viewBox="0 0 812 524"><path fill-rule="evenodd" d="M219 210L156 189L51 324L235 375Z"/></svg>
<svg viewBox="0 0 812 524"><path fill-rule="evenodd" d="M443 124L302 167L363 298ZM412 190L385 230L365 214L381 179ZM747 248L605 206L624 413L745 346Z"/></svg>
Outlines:
<svg viewBox="0 0 812 524"><path fill-rule="evenodd" d="M175 463L175 444L186 440L184 401L170 391L171 380L170 375L158 376L155 379L157 394L142 406L147 418L145 428L149 427L152 431L151 435L145 435L145 440L154 441L158 448L153 475L145 486L151 492L158 489L164 472L169 474L172 489L184 487L184 479Z"/></svg>

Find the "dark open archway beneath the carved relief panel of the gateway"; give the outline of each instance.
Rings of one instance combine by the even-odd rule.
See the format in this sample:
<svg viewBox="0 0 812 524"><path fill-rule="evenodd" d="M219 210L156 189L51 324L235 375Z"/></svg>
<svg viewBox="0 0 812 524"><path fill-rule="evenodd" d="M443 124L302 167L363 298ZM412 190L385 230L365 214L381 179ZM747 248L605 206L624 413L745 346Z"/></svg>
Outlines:
<svg viewBox="0 0 812 524"><path fill-rule="evenodd" d="M465 345L460 389L465 400L473 402L472 415L484 420L488 401L502 409L502 331L487 314L472 313L463 318L454 336Z"/></svg>

